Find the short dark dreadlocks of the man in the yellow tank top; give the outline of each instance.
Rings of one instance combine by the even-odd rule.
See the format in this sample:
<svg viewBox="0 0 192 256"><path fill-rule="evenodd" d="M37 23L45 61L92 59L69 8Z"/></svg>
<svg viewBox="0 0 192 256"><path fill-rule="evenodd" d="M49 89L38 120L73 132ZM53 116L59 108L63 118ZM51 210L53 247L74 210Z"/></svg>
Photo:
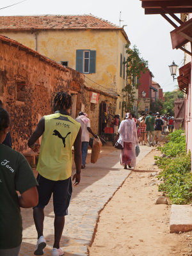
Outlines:
<svg viewBox="0 0 192 256"><path fill-rule="evenodd" d="M69 109L72 106L72 97L66 92L58 92L54 94L53 110Z"/></svg>

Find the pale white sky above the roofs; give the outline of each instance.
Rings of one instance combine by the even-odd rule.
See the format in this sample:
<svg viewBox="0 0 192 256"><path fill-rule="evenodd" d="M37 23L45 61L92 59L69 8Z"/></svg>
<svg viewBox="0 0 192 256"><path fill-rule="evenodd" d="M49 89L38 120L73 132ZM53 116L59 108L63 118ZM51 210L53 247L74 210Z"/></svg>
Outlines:
<svg viewBox="0 0 192 256"><path fill-rule="evenodd" d="M19 0L1 1L0 8L19 2ZM174 60L179 67L183 65L184 52L173 50L170 31L174 28L161 15L145 15L140 0L27 0L10 8L0 10L6 15L77 15L89 14L106 19L119 26L121 22L131 45L136 45L141 56L148 60L148 67L154 74L154 81L160 84L164 92L172 91L177 85L170 76L168 65ZM178 75L178 74L177 74Z"/></svg>

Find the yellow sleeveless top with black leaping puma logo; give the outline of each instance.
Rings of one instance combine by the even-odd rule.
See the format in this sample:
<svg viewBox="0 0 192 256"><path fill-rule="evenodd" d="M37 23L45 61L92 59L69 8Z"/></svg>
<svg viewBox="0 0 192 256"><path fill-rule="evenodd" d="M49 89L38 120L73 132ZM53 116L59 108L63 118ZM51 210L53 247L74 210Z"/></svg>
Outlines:
<svg viewBox="0 0 192 256"><path fill-rule="evenodd" d="M54 113L44 116L37 170L49 180L65 180L72 173L72 145L81 125L71 116Z"/></svg>

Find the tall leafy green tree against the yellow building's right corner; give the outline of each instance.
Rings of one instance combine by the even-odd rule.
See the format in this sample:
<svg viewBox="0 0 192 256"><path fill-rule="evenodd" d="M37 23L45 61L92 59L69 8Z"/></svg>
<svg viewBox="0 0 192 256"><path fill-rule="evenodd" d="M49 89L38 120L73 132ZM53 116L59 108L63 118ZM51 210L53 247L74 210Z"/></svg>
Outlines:
<svg viewBox="0 0 192 256"><path fill-rule="evenodd" d="M123 106L125 112L132 112L132 104L135 100L135 89L138 89L140 83L135 83L141 77L141 72L145 73L148 70L148 61L140 57L140 51L134 45L132 49L130 44L125 45L127 59L124 62L126 70L126 84L122 92L125 92Z"/></svg>

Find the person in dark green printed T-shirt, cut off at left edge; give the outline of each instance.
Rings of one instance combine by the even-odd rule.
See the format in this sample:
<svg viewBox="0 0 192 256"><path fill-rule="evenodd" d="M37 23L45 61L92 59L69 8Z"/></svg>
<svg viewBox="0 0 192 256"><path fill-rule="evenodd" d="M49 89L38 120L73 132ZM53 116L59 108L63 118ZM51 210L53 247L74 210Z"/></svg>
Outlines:
<svg viewBox="0 0 192 256"><path fill-rule="evenodd" d="M28 161L2 143L9 127L8 112L0 108L0 256L19 255L22 242L20 207L30 208L38 203L38 183Z"/></svg>

